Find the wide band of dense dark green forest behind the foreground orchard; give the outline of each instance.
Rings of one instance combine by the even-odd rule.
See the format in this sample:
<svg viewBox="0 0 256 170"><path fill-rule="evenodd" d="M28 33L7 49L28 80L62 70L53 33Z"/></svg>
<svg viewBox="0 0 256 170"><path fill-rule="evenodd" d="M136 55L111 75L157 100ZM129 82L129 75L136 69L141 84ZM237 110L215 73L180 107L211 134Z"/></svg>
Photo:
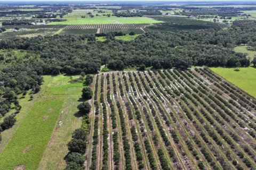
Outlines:
<svg viewBox="0 0 256 170"><path fill-rule="evenodd" d="M0 92L6 99L0 109L4 115L18 94L28 89L37 92L43 74L91 74L107 64L109 69L123 70L125 67L144 65L153 69L187 69L191 65L249 66L246 55L235 53L233 47L255 42L256 22L234 21L230 28L180 29L169 31L159 23L134 41L116 40L115 33L106 36L104 42L95 41L95 35L54 35L49 37L15 38L0 41L1 49L22 49L33 52L37 60L25 60L6 64L1 69ZM186 23L177 23L186 25ZM191 26L191 25L190 25ZM2 56L1 63L9 56ZM28 56L29 58L29 56ZM3 106L3 105L1 105Z"/></svg>

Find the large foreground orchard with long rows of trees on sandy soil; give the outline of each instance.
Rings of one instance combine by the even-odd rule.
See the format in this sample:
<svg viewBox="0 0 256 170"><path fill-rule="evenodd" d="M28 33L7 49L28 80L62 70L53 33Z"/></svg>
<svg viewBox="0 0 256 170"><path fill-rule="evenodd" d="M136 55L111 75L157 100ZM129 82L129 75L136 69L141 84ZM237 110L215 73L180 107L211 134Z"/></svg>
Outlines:
<svg viewBox="0 0 256 170"><path fill-rule="evenodd" d="M86 169L256 168L256 101L209 69L94 80Z"/></svg>

